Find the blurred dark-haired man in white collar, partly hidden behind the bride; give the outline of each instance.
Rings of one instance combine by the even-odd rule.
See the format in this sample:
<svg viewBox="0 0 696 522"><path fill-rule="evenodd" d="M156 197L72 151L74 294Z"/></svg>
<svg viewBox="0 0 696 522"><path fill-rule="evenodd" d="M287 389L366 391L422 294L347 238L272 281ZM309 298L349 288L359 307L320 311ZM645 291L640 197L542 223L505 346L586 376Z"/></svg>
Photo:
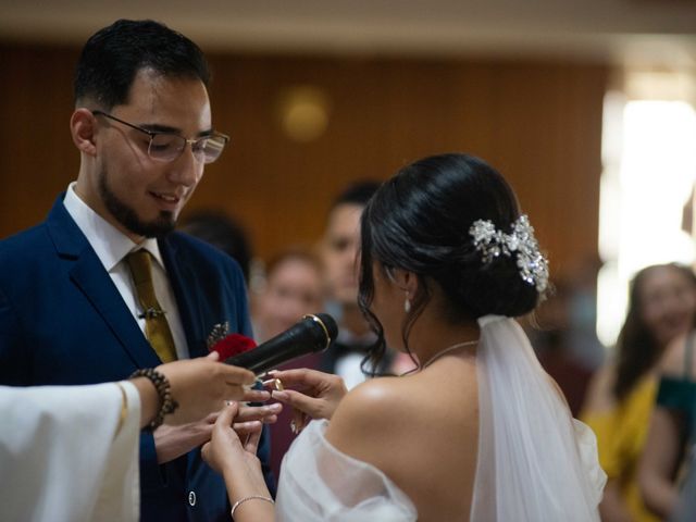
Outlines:
<svg viewBox="0 0 696 522"><path fill-rule="evenodd" d="M324 352L321 369L344 377L348 389L362 383L361 363L376 337L358 308L358 250L360 216L377 182L358 182L333 202L322 241L327 291L326 309L338 322L338 338ZM377 371L388 368L387 361Z"/></svg>

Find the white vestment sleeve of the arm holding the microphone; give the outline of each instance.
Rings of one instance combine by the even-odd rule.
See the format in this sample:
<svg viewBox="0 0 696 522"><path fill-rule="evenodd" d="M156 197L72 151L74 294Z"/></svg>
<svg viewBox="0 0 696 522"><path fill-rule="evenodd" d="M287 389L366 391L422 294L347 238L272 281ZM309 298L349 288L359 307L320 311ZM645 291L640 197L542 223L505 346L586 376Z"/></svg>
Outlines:
<svg viewBox="0 0 696 522"><path fill-rule="evenodd" d="M3 520L138 520L140 398L120 385L0 386Z"/></svg>

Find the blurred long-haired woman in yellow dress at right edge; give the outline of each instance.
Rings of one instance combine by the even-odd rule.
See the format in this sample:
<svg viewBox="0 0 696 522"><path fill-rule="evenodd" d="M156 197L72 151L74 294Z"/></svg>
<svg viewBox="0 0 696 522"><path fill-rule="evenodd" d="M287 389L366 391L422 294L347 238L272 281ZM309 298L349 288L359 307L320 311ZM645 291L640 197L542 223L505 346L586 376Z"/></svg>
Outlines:
<svg viewBox="0 0 696 522"><path fill-rule="evenodd" d="M691 270L660 264L639 271L614 360L596 375L584 420L594 428L609 482L600 505L605 521L651 521L641 499L637 464L657 391L658 362L694 325L696 278Z"/></svg>

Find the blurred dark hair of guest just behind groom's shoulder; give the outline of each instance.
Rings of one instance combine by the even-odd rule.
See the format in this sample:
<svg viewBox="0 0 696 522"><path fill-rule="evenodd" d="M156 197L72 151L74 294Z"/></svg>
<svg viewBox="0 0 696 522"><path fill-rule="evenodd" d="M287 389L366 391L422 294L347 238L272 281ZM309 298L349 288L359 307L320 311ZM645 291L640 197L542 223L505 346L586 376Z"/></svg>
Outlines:
<svg viewBox="0 0 696 522"><path fill-rule="evenodd" d="M237 261L244 279L249 284L251 245L247 232L229 215L215 210L199 210L184 217L179 229L217 247Z"/></svg>

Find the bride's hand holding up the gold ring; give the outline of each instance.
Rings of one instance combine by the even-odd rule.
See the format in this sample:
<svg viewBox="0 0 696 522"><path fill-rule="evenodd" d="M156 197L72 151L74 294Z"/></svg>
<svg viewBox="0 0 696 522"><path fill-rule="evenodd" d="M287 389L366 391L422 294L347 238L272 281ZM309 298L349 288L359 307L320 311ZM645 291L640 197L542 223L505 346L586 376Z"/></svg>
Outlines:
<svg viewBox="0 0 696 522"><path fill-rule="evenodd" d="M272 374L286 388L283 391L273 391L272 398L293 407L297 432L312 419L331 419L338 402L348 393L344 380L331 373L300 369ZM288 387L297 389L287 389Z"/></svg>

